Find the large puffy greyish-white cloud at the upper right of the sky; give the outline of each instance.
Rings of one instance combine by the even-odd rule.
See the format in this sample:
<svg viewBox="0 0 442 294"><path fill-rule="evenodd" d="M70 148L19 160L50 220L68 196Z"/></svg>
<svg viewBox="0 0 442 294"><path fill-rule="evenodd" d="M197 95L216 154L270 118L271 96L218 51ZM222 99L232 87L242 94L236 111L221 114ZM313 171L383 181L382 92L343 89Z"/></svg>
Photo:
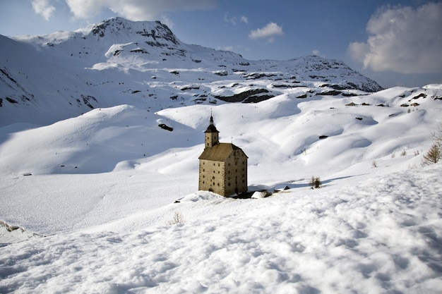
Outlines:
<svg viewBox="0 0 442 294"><path fill-rule="evenodd" d="M441 27L442 2L416 9L386 6L367 23L367 41L350 43L348 53L374 71L441 72Z"/></svg>

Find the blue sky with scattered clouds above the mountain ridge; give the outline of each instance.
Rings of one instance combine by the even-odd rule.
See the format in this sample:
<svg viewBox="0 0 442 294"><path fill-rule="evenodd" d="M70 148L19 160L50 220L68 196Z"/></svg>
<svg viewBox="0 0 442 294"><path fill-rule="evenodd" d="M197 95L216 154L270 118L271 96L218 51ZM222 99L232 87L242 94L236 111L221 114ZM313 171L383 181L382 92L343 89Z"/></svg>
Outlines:
<svg viewBox="0 0 442 294"><path fill-rule="evenodd" d="M383 87L442 83L442 1L0 0L0 35L76 30L112 16L160 20L182 42L246 59L339 59Z"/></svg>

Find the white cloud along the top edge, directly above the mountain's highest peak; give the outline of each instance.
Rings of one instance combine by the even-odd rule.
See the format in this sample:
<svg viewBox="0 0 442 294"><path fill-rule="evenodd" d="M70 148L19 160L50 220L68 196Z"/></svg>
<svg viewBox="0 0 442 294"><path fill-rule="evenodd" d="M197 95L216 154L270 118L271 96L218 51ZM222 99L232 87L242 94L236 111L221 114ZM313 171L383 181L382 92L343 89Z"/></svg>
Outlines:
<svg viewBox="0 0 442 294"><path fill-rule="evenodd" d="M129 20L158 20L167 11L214 8L216 0L66 0L76 18L90 18L109 9Z"/></svg>

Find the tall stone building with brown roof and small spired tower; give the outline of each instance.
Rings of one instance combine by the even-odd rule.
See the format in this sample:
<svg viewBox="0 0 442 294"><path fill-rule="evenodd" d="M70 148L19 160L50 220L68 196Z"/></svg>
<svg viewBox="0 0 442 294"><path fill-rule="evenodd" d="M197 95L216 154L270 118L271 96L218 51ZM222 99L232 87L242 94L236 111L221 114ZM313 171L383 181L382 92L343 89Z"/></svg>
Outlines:
<svg viewBox="0 0 442 294"><path fill-rule="evenodd" d="M210 116L200 160L199 190L230 196L247 192L247 156L232 143L220 143Z"/></svg>

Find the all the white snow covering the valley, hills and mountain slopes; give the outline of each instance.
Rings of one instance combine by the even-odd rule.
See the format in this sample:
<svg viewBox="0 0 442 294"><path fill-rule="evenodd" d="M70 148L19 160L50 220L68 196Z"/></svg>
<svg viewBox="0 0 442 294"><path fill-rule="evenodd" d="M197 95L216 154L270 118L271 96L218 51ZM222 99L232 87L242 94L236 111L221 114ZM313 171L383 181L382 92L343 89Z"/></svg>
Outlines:
<svg viewBox="0 0 442 294"><path fill-rule="evenodd" d="M221 55L212 65L204 56L191 61L201 68L140 63L129 53L147 47L125 31L109 42L90 30L18 38L53 50L54 64L63 48L84 49L87 57L65 61L62 75L52 69L59 65L34 61L32 46L0 37L17 55L0 57L8 85L0 94L23 92L0 108L0 293L442 293L442 169L421 166L442 122L442 85L330 96L307 73L301 87L275 87L287 85L273 75L286 73L284 62L244 63L247 75L268 63L269 76L258 80L235 78L232 68L214 75L224 71L215 70L222 56L244 61L229 52L213 50ZM164 37L193 60L211 56ZM105 54L73 46L93 38ZM28 63L50 75L32 85ZM96 72L80 85L86 66ZM36 86L44 80L54 87ZM257 85L275 97L193 102ZM211 114L220 141L249 157L251 199L198 191ZM312 176L320 189L309 188ZM172 224L177 214L183 221Z"/></svg>

